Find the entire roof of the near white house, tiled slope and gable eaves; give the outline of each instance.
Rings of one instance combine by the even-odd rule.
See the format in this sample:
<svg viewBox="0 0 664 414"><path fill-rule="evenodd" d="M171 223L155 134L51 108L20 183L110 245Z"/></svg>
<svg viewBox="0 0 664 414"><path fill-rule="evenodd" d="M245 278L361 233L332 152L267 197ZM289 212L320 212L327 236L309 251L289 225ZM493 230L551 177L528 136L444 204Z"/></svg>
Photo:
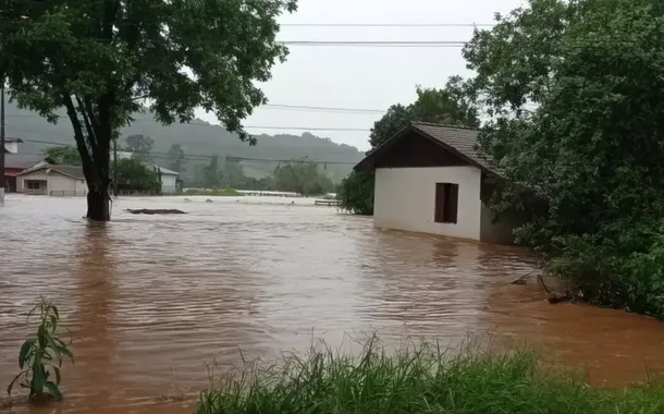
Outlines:
<svg viewBox="0 0 664 414"><path fill-rule="evenodd" d="M441 145L443 148L453 154L456 154L479 169L491 172L496 171L491 162L489 162L489 160L477 150L479 135L478 130L440 125L427 122L410 123L410 125L406 126L382 145L371 150L365 159L355 166L355 169L371 169L370 166L382 158L389 148L391 148L399 139L406 137L409 133L416 133L425 138L431 139L435 144Z"/></svg>

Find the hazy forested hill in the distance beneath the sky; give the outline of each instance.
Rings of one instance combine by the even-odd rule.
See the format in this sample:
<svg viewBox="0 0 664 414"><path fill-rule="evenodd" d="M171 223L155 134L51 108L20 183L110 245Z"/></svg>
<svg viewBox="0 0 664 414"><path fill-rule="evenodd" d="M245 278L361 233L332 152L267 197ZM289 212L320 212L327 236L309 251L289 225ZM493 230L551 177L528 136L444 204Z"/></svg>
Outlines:
<svg viewBox="0 0 664 414"><path fill-rule="evenodd" d="M69 119L64 118L58 124L48 123L37 113L21 110L15 104L7 106L7 135L23 138L24 141L40 141L52 143L74 144L73 131ZM229 133L224 127L210 125L205 121L196 120L194 124L172 124L163 126L149 114L137 114L131 126L123 129L124 137L132 134L144 134L155 139L152 158L156 163L164 165L169 148L173 144L181 144L187 156L187 175L192 174L197 166L207 163L205 158L193 156L220 157L234 156L254 159L288 160L308 157L316 161L349 162L347 165L330 163L321 166L327 168L334 182L341 181L358 162L364 154L352 146L333 143L330 138L319 137L310 133L296 135L259 135L257 145L249 146L241 142L236 135ZM26 141L22 145L23 153L41 153L48 144ZM274 170L275 162L243 161L247 175L265 175Z"/></svg>

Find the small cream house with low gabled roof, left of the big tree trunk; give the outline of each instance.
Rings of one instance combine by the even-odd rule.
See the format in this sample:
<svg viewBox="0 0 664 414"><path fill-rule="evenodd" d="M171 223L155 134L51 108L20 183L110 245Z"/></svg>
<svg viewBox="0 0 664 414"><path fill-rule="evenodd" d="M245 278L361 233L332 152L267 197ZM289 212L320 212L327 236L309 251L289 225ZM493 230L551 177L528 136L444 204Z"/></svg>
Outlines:
<svg viewBox="0 0 664 414"><path fill-rule="evenodd" d="M85 196L81 167L38 165L16 174L16 192L32 195Z"/></svg>

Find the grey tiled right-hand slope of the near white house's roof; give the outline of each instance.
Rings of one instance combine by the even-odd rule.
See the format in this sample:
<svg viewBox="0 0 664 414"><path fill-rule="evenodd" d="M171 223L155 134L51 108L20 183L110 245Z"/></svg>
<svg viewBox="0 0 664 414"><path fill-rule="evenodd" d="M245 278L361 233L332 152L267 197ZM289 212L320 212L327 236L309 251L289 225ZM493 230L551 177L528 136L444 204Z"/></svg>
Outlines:
<svg viewBox="0 0 664 414"><path fill-rule="evenodd" d="M413 126L427 134L429 137L456 149L480 167L493 170L491 162L482 157L476 149L479 131L426 122L413 122Z"/></svg>

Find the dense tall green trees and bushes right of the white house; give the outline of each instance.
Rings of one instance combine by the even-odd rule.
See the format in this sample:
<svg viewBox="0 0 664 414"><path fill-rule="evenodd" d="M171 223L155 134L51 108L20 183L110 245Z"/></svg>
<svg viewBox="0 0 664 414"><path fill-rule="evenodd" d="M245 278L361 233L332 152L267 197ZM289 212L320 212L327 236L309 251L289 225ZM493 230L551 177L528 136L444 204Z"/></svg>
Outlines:
<svg viewBox="0 0 664 414"><path fill-rule="evenodd" d="M664 4L531 0L497 23L465 50L507 179L494 210L530 188L545 208L519 241L593 303L664 317Z"/></svg>

